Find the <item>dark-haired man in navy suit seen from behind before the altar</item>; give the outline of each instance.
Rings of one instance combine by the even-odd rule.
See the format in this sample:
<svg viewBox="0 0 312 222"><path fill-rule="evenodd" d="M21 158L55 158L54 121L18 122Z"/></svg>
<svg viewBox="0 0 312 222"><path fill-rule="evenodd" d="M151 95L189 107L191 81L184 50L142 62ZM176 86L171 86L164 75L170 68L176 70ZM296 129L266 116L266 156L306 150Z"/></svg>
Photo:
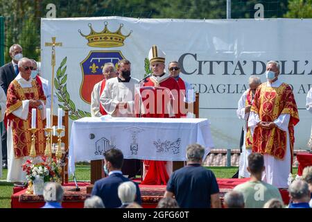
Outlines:
<svg viewBox="0 0 312 222"><path fill-rule="evenodd" d="M118 196L118 187L122 182L130 181L121 172L121 168L123 167L123 153L119 149L111 149L104 154L104 157L104 171L108 177L95 182L92 196L101 197L106 208L120 207L121 200ZM137 187L135 202L141 205L139 185L135 183L135 186Z"/></svg>

